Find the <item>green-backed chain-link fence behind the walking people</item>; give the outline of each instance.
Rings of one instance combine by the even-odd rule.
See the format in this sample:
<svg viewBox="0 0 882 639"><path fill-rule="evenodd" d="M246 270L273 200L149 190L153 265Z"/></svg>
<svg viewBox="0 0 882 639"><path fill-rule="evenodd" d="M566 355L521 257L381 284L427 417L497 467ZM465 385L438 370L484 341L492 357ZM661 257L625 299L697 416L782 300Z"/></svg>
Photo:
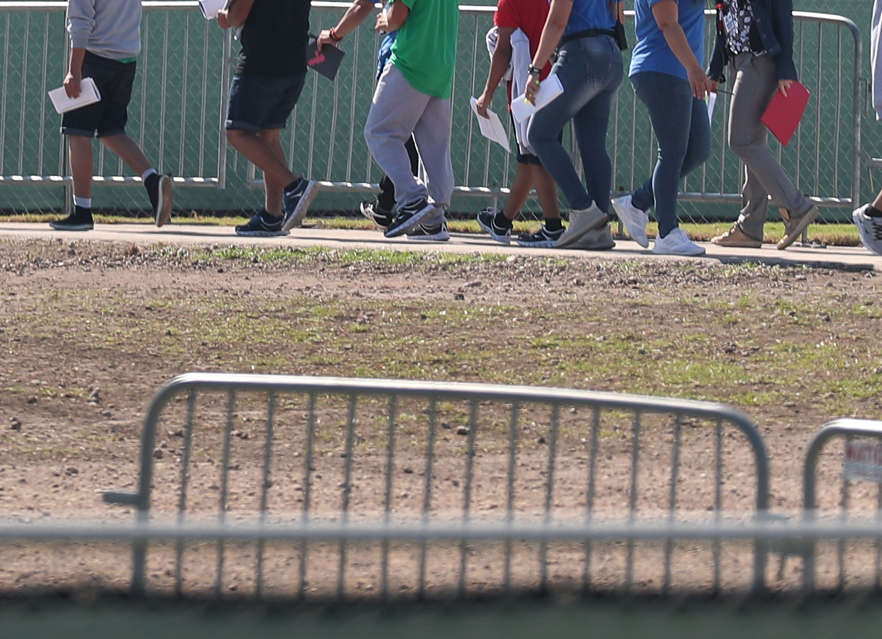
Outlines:
<svg viewBox="0 0 882 639"><path fill-rule="evenodd" d="M59 2L0 3L0 33L4 33L0 45L4 52L0 210L5 212L55 212L70 200L63 177L69 173L64 141L57 133L60 117L46 97L49 88L61 83L66 67L64 6ZM238 44L203 19L195 2L144 6L143 50L130 108L130 134L157 168L178 176L177 186L182 187L176 190L179 211L250 212L261 199L253 191L259 175L228 149L222 134L230 56ZM313 3L311 31L333 26L346 6ZM505 197L515 168L511 153L480 135L467 104L471 95L481 93L489 71L484 34L492 26L492 15L492 7L462 7L460 11L452 138L459 185L453 209L459 212L475 212L492 198ZM860 63L856 63L860 51L859 34L856 27L853 33L852 26L848 20L830 16L797 15L796 64L813 97L789 147L773 143L774 152L796 176L797 184L826 205L826 219L848 218L862 175L863 160L855 160L860 158L855 143L860 118L855 117L855 107L863 84L855 80L860 76ZM628 29L633 42L632 19ZM709 27L708 51L712 32ZM377 45L377 35L366 26L348 37L343 44L347 56L337 80L331 83L310 73L307 90L284 132L283 147L295 172L327 182L313 204L317 211L354 211L381 175L362 134L375 85ZM626 53L625 64L629 57ZM495 108L504 111L502 99ZM737 214L743 167L726 145L727 117L728 104L721 100L714 115L714 155L684 181L681 211L687 219L730 219ZM507 124L507 118L503 119ZM565 144L572 148L568 129ZM631 190L650 175L654 147L646 109L625 81L609 130L614 191ZM574 153L578 160L577 156ZM95 173L103 177L95 189L96 207L119 212L146 207L146 195L131 189L138 185L138 178L115 155L101 149ZM5 188L7 184L14 188ZM213 188L189 188L193 186ZM534 203L528 207L537 211Z"/></svg>

